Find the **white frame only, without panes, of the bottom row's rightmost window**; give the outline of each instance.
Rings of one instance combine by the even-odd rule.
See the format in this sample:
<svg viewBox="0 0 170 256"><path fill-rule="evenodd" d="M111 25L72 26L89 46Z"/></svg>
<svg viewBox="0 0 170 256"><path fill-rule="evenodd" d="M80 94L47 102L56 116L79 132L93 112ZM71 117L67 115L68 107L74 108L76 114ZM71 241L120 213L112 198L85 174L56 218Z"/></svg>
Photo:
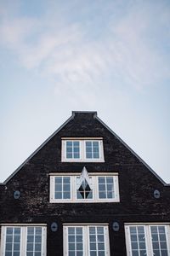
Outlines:
<svg viewBox="0 0 170 256"><path fill-rule="evenodd" d="M152 236L150 227L152 226L164 226L165 234L167 240L167 253L170 256L170 224L169 223L137 223L137 224L125 224L125 237L126 237L126 247L127 247L127 256L132 256L132 247L130 239L130 227L144 227L144 236L145 236L145 246L146 253L148 256L154 255L152 247Z"/></svg>

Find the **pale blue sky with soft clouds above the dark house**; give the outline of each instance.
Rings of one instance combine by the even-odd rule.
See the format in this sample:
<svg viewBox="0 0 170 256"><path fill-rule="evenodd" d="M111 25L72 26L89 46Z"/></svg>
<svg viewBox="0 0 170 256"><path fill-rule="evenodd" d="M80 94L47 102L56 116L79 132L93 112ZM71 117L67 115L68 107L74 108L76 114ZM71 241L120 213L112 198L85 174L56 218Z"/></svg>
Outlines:
<svg viewBox="0 0 170 256"><path fill-rule="evenodd" d="M170 1L0 0L0 182L97 111L170 183Z"/></svg>

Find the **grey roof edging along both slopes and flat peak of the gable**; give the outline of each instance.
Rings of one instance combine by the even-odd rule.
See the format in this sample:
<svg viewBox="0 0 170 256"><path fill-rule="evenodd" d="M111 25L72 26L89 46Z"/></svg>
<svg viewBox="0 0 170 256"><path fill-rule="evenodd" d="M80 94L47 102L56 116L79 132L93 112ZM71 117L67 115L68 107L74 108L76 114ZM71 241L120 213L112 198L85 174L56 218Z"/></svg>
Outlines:
<svg viewBox="0 0 170 256"><path fill-rule="evenodd" d="M133 155L135 155L135 156L137 157L137 159L139 159L139 161L140 161L144 166L146 166L146 167L150 170L150 172L152 172L152 173L157 177L157 179L158 179L161 183L163 183L165 186L170 186L170 183L165 183L165 182L161 179L161 177L159 177L159 175L157 175L157 173L156 173L152 168L150 168L150 166L148 166L148 165L144 162L144 160L142 160L142 159L139 157L139 155L136 154L136 153L133 151L132 148L130 148L130 147L127 145L127 143L123 142L122 139L121 139L120 137L118 137L118 136L116 135L116 133L111 130L111 128L110 128L109 126L105 125L105 123L104 123L101 119L99 119L99 117L97 116L97 112L96 112L96 111L72 111L71 117L70 117L69 119L67 119L63 125L59 126L59 128L58 128L56 131L54 131L54 133L53 133L50 137L48 137L48 139L45 140L45 141L40 145L40 147L38 147L38 148L37 148L37 149L36 149L36 150L35 150L35 151L34 151L34 152L33 152L33 153L32 153L15 171L14 171L3 183L0 183L0 185L5 185L6 183L8 183L8 181L9 181L12 177L14 177L14 175L15 175L17 172L19 172L20 169L21 169L23 166L25 166L26 163L27 163L29 160L31 160L31 158L32 158L35 154L37 154L37 152L38 152L42 147L44 147L46 143L48 143L49 140L51 140L65 125L67 125L67 124L71 121L71 119L74 119L76 113L94 113L94 118L97 119L102 125L104 125L105 128L106 128L108 131L110 131L112 135L114 135L114 136L115 136L132 154L133 154Z"/></svg>

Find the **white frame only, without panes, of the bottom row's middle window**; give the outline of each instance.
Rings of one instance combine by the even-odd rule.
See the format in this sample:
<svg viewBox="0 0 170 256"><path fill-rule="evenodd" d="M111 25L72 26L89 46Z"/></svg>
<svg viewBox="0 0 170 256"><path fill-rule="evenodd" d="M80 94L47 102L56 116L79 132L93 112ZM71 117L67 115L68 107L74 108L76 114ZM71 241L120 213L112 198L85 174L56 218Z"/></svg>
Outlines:
<svg viewBox="0 0 170 256"><path fill-rule="evenodd" d="M89 227L103 227L105 241L105 256L110 256L110 240L108 224L63 224L63 248L64 256L68 256L68 228L82 228L83 256L90 255Z"/></svg>

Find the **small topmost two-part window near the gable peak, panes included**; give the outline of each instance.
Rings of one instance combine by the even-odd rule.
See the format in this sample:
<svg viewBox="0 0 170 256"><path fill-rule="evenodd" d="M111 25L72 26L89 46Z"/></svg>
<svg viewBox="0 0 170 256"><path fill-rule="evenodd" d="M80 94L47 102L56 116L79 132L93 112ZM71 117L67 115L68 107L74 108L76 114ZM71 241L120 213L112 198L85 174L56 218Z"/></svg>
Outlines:
<svg viewBox="0 0 170 256"><path fill-rule="evenodd" d="M62 161L104 162L102 138L62 138Z"/></svg>

